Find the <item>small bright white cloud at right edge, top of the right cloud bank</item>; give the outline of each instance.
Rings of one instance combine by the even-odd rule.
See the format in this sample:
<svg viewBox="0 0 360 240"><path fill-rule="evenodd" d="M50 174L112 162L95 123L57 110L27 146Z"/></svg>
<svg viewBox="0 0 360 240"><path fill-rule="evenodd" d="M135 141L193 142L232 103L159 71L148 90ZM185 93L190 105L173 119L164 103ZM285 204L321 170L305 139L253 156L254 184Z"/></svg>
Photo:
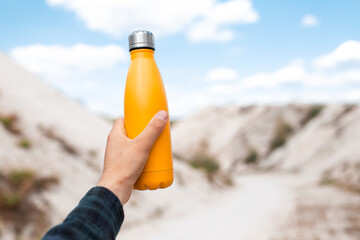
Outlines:
<svg viewBox="0 0 360 240"><path fill-rule="evenodd" d="M344 63L360 63L360 41L348 40L333 52L313 61L315 68L333 68Z"/></svg>

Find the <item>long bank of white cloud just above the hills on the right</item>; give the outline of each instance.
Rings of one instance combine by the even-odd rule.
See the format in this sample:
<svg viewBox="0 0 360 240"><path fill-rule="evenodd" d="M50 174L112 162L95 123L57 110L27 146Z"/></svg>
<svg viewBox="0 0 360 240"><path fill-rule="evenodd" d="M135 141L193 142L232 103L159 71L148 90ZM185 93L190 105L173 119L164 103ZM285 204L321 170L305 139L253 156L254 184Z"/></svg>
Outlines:
<svg viewBox="0 0 360 240"><path fill-rule="evenodd" d="M298 59L272 72L252 74L236 81L210 83L197 95L216 105L359 102L359 68L354 65L337 68L340 63L357 61L357 44L346 41L332 53L313 61ZM327 68L311 68L312 63L321 63ZM296 85L288 85L292 83Z"/></svg>

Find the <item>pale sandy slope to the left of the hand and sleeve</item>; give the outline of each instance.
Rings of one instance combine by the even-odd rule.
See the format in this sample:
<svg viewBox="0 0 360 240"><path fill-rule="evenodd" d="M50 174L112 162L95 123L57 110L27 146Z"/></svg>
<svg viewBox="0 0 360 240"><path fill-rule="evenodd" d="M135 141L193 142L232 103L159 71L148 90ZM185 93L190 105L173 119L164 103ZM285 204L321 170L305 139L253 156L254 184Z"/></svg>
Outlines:
<svg viewBox="0 0 360 240"><path fill-rule="evenodd" d="M99 179L111 124L0 53L0 117L9 115L17 117L14 125L20 134L0 125L1 169L31 169L39 176L59 177L58 186L42 194L38 205L52 213L51 223L60 222ZM21 139L28 139L32 147L20 148ZM64 143L75 153L66 151Z"/></svg>

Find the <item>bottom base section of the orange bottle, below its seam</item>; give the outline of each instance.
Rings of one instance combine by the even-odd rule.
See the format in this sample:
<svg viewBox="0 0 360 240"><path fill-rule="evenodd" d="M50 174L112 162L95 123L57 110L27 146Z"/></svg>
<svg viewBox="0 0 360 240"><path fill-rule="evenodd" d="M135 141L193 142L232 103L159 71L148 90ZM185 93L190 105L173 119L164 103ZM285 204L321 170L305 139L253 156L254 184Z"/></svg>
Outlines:
<svg viewBox="0 0 360 240"><path fill-rule="evenodd" d="M171 186L174 180L173 169L157 172L143 172L136 181L136 190L156 190Z"/></svg>

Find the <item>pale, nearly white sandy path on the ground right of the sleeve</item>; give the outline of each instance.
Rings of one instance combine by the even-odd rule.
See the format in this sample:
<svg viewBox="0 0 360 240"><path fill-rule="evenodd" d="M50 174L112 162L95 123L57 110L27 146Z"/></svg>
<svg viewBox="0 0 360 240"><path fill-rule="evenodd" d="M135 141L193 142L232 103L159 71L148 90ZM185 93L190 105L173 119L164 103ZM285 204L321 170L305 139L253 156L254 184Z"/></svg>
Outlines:
<svg viewBox="0 0 360 240"><path fill-rule="evenodd" d="M294 207L295 182L275 174L239 177L232 190L214 195L211 203L125 229L119 239L270 239Z"/></svg>

